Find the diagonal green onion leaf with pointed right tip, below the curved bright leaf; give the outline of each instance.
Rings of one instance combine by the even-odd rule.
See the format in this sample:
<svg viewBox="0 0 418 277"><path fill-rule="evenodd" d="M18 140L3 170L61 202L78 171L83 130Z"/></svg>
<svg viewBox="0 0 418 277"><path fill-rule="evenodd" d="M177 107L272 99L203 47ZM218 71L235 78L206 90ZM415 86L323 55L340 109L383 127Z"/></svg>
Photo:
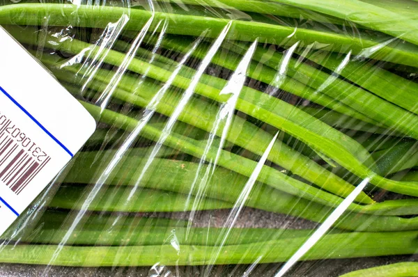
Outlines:
<svg viewBox="0 0 418 277"><path fill-rule="evenodd" d="M68 79L68 76L70 76L68 72L52 70L56 77L61 80ZM70 70L70 72L79 72L80 74L83 74L83 70L77 68ZM109 84L108 80L110 74L111 72L97 70L93 79L98 79L103 82L104 86L107 86L107 84ZM95 85L94 82L91 82L90 87L99 89L100 85L101 84ZM147 106L150 101L152 101L153 97L162 90L162 86L155 86L155 84L146 80L142 81L141 84L137 84L137 79L129 77L128 75L121 78L118 86L125 90L118 88L114 89L112 97L127 100L128 102L132 102L132 104L138 104L139 106L144 107ZM130 93L127 92L130 88L134 88L135 95L137 95L136 97L130 96ZM167 90L165 95L159 100L159 103L155 105L155 110L165 116L171 116L179 102L180 95L176 94L175 91ZM205 103L193 99L185 104L178 119L201 129L205 129L207 132L211 132L213 126L219 125L219 127L215 129L215 132L219 137L236 145L240 145L242 148L254 152L256 155L263 155L264 150L273 139L272 135L264 132L262 129L258 129L256 126L251 125L251 123L246 122L238 116L232 116L229 132L224 134L226 123L215 122L215 119L218 117L217 113L217 106L210 106L207 102ZM304 179L314 182L318 187L333 192L336 195L348 196L348 194L353 191L352 185L344 182L339 177L330 174L329 171L326 171L323 167L319 166L314 161L311 161L311 159L304 155L300 155L299 152L289 148L284 143L281 143L281 141L274 142L268 159L275 164L283 166L289 171L304 177ZM360 193L357 200L361 203L373 203L373 200L366 196L365 193Z"/></svg>

